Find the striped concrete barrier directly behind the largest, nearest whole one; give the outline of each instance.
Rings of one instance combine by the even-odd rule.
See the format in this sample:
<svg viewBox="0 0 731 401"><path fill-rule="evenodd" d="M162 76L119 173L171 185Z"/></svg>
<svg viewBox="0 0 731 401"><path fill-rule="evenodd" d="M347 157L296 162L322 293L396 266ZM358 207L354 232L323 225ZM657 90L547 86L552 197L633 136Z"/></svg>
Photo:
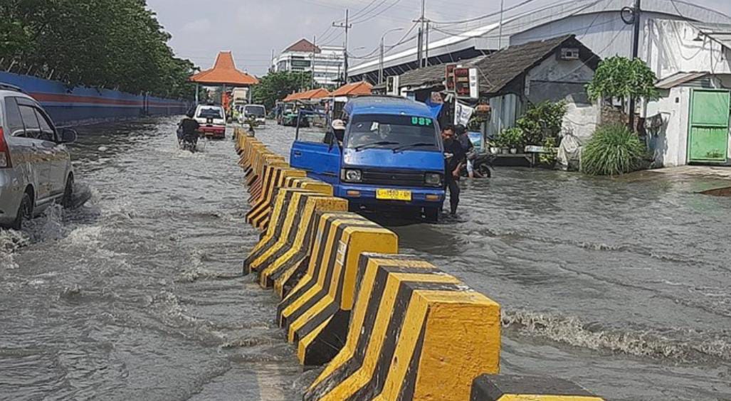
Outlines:
<svg viewBox="0 0 731 401"><path fill-rule="evenodd" d="M329 362L344 345L360 254L398 252L396 234L355 213L323 213L316 237L308 274L278 308L305 365Z"/></svg>

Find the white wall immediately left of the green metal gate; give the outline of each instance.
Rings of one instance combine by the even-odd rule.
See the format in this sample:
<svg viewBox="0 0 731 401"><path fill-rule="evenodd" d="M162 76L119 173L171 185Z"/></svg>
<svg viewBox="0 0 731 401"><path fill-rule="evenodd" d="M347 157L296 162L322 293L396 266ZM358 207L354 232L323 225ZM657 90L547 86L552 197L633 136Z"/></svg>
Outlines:
<svg viewBox="0 0 731 401"><path fill-rule="evenodd" d="M663 91L662 97L647 104L647 116L661 113L664 124L655 141L655 160L662 167L687 164L690 88Z"/></svg>

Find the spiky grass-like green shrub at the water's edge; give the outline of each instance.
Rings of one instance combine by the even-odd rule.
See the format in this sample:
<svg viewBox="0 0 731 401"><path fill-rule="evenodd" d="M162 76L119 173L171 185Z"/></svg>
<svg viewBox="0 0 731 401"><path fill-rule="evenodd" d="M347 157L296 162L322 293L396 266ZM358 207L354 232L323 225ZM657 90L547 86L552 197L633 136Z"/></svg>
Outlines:
<svg viewBox="0 0 731 401"><path fill-rule="evenodd" d="M581 171L589 175L621 175L643 164L645 145L623 124L599 126L581 153Z"/></svg>

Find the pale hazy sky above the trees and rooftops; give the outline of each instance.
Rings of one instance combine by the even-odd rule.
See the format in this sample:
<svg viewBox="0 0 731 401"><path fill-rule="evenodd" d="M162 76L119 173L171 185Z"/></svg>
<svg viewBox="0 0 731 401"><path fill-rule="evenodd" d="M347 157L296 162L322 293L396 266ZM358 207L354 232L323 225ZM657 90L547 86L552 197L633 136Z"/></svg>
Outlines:
<svg viewBox="0 0 731 401"><path fill-rule="evenodd" d="M511 7L523 0L505 0ZM632 0L626 1L628 5ZM558 1L534 0L516 12ZM730 0L692 1L703 7L731 15ZM162 25L173 34L170 42L178 56L190 58L203 68L213 64L219 50L232 50L240 69L262 75L269 66L272 50L279 53L298 39L319 37L318 43L341 45L342 29L329 28L344 18L345 9L353 15L349 49L355 56L374 52L381 34L391 28L404 31L388 35L397 42L418 18L421 0L148 0ZM367 7L367 8L366 8ZM426 0L427 18L455 21L497 12L499 0ZM493 22L495 18L477 21ZM459 31L473 25L445 26ZM354 61L352 64L357 64Z"/></svg>

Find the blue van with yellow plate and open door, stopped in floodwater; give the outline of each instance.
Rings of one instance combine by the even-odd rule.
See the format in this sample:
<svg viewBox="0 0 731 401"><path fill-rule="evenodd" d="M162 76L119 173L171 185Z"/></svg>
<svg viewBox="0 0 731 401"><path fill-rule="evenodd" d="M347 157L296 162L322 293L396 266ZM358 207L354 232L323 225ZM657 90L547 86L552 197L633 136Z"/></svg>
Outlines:
<svg viewBox="0 0 731 401"><path fill-rule="evenodd" d="M431 110L408 99L367 96L350 100L341 119L342 144L335 135L298 129L292 167L332 184L352 210L417 210L436 221L444 203L444 150Z"/></svg>

